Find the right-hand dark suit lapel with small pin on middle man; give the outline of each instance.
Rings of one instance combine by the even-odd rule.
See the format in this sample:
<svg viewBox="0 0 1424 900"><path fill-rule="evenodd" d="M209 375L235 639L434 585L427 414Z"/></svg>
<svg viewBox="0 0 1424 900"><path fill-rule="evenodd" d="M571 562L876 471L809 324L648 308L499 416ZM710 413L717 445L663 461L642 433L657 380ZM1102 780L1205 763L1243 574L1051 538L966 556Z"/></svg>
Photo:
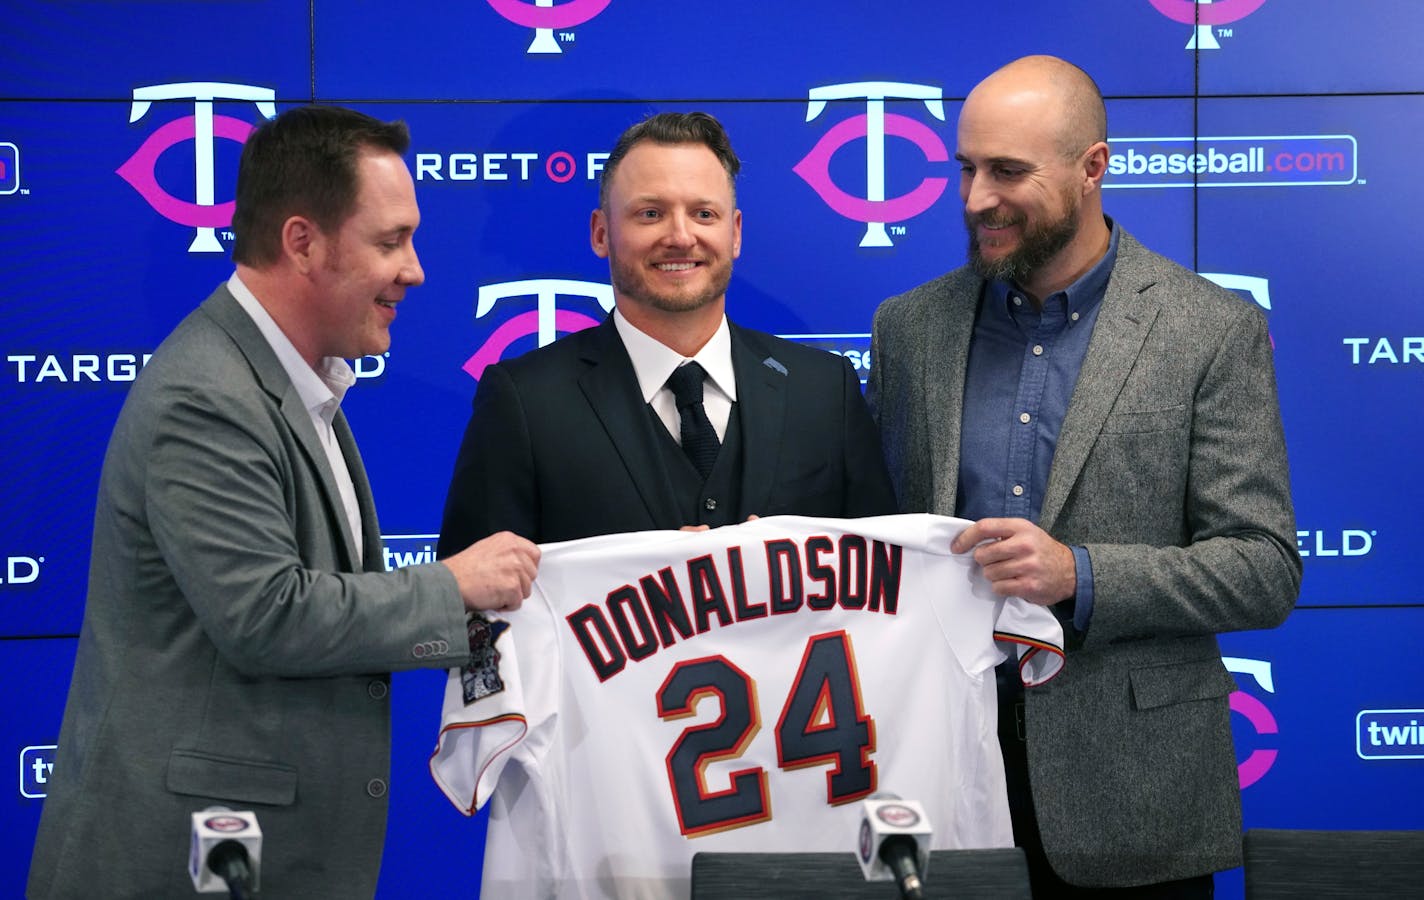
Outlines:
<svg viewBox="0 0 1424 900"><path fill-rule="evenodd" d="M753 345L746 332L732 329L732 372L736 375L736 406L742 417L742 510L768 508L772 480L780 460L786 430L786 380L792 375ZM772 363L776 363L775 366Z"/></svg>

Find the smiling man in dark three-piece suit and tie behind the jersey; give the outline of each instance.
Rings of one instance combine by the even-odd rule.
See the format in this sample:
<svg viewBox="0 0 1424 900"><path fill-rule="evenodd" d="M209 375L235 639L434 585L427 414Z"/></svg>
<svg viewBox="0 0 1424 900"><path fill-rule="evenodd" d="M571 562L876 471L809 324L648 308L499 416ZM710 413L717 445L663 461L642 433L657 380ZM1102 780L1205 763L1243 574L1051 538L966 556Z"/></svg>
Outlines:
<svg viewBox="0 0 1424 900"><path fill-rule="evenodd" d="M896 511L852 366L726 318L739 168L703 112L654 115L622 134L590 234L617 309L486 369L441 557L503 530L547 543ZM679 372L692 365L701 373Z"/></svg>

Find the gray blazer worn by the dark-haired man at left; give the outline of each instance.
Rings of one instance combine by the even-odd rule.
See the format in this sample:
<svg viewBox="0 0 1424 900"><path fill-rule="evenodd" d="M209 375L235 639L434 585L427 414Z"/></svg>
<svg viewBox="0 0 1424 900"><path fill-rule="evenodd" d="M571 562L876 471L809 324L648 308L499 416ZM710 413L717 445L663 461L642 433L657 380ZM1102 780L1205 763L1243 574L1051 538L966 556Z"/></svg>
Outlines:
<svg viewBox="0 0 1424 900"><path fill-rule="evenodd" d="M262 896L370 897L389 672L468 655L439 564L365 572L310 416L218 288L158 347L110 440L88 602L31 897L184 897L189 815L256 812ZM464 649L464 652L461 652Z"/></svg>

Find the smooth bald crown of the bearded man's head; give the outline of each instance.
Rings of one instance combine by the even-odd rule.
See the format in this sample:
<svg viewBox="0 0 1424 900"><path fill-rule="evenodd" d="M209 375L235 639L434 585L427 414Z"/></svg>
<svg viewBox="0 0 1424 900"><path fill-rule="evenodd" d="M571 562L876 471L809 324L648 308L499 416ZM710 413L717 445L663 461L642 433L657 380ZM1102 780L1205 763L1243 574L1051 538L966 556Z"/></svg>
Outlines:
<svg viewBox="0 0 1424 900"><path fill-rule="evenodd" d="M964 111L985 105L1018 114L1022 127L1047 130L1045 137L1068 158L1108 140L1108 111L1098 85L1058 57L1022 57L997 70L970 91Z"/></svg>

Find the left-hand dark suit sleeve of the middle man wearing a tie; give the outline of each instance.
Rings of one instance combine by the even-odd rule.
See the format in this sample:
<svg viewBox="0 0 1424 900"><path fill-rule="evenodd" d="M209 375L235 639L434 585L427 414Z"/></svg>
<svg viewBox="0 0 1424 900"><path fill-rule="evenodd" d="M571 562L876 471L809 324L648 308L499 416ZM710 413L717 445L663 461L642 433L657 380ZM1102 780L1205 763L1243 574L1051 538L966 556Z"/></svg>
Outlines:
<svg viewBox="0 0 1424 900"><path fill-rule="evenodd" d="M534 450L523 400L503 366L480 377L470 422L460 441L439 557L449 557L497 531L541 540Z"/></svg>

